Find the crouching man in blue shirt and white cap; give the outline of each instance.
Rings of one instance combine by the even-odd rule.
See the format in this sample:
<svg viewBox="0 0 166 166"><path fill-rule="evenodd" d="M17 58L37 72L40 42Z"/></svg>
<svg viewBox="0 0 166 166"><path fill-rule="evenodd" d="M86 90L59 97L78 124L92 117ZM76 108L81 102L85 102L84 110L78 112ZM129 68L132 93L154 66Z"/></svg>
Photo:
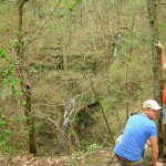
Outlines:
<svg viewBox="0 0 166 166"><path fill-rule="evenodd" d="M157 166L157 127L154 120L160 108L156 101L147 100L143 104L143 113L128 118L122 138L114 148L114 153L123 166L143 166L142 154L147 139L151 144L152 166Z"/></svg>

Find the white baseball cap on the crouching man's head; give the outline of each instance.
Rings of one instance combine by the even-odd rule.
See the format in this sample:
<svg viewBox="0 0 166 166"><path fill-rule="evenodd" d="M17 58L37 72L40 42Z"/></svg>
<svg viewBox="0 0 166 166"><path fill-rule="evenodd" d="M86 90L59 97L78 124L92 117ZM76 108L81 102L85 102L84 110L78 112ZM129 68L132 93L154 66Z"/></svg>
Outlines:
<svg viewBox="0 0 166 166"><path fill-rule="evenodd" d="M158 103L154 100L147 100L144 104L143 104L143 108L152 108L155 111L158 111L162 108L162 106L158 105Z"/></svg>

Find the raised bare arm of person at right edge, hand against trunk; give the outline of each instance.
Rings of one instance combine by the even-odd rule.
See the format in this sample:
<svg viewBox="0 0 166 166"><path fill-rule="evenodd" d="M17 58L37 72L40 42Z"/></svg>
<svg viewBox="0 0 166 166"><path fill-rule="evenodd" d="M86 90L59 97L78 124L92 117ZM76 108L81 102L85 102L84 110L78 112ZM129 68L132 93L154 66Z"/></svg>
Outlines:
<svg viewBox="0 0 166 166"><path fill-rule="evenodd" d="M160 44L159 41L158 41L158 43L155 43L155 46L158 51L158 54L162 56L163 70L166 71L166 55L164 53L164 46Z"/></svg>

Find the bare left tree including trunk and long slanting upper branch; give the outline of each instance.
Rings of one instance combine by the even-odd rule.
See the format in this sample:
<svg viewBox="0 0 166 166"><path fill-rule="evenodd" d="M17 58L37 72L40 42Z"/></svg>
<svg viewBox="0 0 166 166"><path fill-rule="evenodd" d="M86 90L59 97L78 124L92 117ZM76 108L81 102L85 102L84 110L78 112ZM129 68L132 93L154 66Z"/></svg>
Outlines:
<svg viewBox="0 0 166 166"><path fill-rule="evenodd" d="M18 74L21 80L21 91L23 93L23 100L25 101L24 115L27 116L27 125L29 129L29 151L30 153L37 155L37 145L35 145L35 126L34 126L34 117L31 111L31 85L27 81L27 75L24 72L24 50L28 45L38 37L39 32L42 30L43 25L46 21L52 17L56 8L59 7L61 0L56 3L53 11L48 15L48 18L42 22L41 27L37 30L34 35L24 44L23 41L23 6L28 2L28 0L18 0L18 46L17 46L17 55L20 62L18 68Z"/></svg>

